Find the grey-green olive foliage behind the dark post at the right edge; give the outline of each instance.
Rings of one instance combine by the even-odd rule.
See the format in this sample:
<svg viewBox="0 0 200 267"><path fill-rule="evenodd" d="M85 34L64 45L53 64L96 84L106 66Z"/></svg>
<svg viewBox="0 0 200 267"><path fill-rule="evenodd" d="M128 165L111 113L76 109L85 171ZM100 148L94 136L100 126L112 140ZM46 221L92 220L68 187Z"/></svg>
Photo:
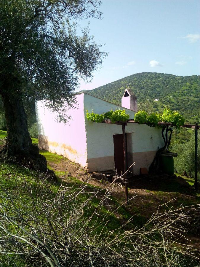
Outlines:
<svg viewBox="0 0 200 267"><path fill-rule="evenodd" d="M187 173L189 177L193 177L195 171L195 134L193 133L186 143L172 144L173 151L178 153L175 158L175 169L179 174ZM198 130L198 147L197 147L197 168L200 172L200 133Z"/></svg>

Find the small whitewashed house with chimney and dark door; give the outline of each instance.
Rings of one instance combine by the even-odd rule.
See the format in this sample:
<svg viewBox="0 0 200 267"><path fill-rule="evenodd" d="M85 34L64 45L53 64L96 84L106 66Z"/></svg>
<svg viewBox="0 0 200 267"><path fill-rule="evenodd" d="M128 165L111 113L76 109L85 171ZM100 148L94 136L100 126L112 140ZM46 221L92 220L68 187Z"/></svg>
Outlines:
<svg viewBox="0 0 200 267"><path fill-rule="evenodd" d="M123 142L121 125L88 121L86 110L104 113L111 109L124 109L134 118L137 112L137 98L126 89L122 106L103 99L80 93L76 96L75 108L68 109L71 120L68 123L56 121L55 114L44 106L44 100L36 102L36 117L39 131L39 148L79 163L91 171L123 170ZM127 123L128 166L133 162L133 174L140 168L149 168L156 151L164 145L161 130L145 124Z"/></svg>

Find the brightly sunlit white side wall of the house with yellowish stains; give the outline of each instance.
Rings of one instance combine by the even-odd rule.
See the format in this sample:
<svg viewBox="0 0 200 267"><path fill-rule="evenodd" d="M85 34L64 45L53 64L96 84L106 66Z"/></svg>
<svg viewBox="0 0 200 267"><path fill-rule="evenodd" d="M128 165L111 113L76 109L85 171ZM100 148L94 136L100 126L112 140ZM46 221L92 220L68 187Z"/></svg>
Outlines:
<svg viewBox="0 0 200 267"><path fill-rule="evenodd" d="M66 125L56 120L56 114L44 106L44 100L36 102L36 118L39 137L46 138L47 147L39 142L40 149L63 155L68 159L87 164L87 141L84 118L84 94L76 96L77 104L69 108L67 115L72 117ZM41 138L39 138L41 139Z"/></svg>

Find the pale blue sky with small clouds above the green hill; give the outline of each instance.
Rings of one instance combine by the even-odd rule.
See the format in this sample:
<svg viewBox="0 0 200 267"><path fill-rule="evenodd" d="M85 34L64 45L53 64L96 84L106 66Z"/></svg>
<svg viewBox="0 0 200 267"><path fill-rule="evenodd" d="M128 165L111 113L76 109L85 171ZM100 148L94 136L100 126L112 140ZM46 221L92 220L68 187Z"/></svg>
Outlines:
<svg viewBox="0 0 200 267"><path fill-rule="evenodd" d="M101 20L90 34L109 53L91 83L93 89L138 72L200 74L200 0L102 0Z"/></svg>

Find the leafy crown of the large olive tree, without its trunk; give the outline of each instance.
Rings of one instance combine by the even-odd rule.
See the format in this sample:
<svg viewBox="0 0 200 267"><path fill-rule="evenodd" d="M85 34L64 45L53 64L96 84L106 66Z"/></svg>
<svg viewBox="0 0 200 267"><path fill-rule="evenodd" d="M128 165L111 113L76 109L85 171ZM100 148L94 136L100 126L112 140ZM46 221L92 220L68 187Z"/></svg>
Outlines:
<svg viewBox="0 0 200 267"><path fill-rule="evenodd" d="M63 109L65 101L73 102L78 77L92 78L105 54L88 28L78 36L76 27L80 19L100 18L100 4L98 0L1 1L1 77L9 79L12 73L17 78L24 101L45 98L51 108ZM18 90L14 87L12 93Z"/></svg>

